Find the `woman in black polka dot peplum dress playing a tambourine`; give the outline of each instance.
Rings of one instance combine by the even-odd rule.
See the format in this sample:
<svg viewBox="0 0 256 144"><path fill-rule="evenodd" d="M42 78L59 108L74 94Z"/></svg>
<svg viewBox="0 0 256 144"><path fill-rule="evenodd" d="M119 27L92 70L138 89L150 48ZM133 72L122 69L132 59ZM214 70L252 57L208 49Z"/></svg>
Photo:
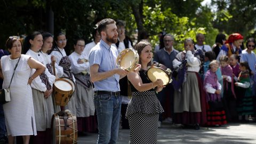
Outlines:
<svg viewBox="0 0 256 144"><path fill-rule="evenodd" d="M135 46L135 50L140 57L141 70L127 75L132 83L132 99L126 111L130 125L129 143L157 143L158 116L164 110L157 99L156 91L162 91L163 81L157 79L152 83L147 77L147 67L153 57L151 44L141 41Z"/></svg>

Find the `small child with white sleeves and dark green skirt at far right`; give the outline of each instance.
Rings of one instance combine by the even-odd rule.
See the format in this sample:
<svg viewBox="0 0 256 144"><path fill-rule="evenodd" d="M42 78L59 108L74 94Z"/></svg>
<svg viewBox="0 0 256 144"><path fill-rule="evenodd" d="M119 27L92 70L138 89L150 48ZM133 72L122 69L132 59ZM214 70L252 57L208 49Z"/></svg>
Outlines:
<svg viewBox="0 0 256 144"><path fill-rule="evenodd" d="M241 72L238 76L238 82L235 83L239 89L239 93L237 93L237 111L239 121L247 122L249 115L253 114L252 89L250 86L251 69L246 61L240 62L239 69Z"/></svg>

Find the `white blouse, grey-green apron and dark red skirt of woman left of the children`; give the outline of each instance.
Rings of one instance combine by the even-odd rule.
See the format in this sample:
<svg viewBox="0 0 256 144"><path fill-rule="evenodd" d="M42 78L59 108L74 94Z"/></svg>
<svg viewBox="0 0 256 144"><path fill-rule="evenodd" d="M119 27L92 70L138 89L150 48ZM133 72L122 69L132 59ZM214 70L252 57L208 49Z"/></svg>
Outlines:
<svg viewBox="0 0 256 144"><path fill-rule="evenodd" d="M174 92L174 122L204 125L206 123L206 98L201 78L198 75L201 61L191 51L183 51L178 53L176 59L173 60L174 69L182 65L185 59L187 59L187 68L183 67L184 78L181 87L179 89L176 87Z"/></svg>

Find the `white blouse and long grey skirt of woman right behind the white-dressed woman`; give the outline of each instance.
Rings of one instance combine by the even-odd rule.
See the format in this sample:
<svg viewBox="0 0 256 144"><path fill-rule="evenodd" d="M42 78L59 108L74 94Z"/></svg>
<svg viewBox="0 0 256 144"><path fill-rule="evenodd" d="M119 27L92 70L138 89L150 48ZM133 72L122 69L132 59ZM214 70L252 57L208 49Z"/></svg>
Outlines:
<svg viewBox="0 0 256 144"><path fill-rule="evenodd" d="M34 52L29 49L26 54L41 63L44 61L39 52ZM35 71L35 69L33 69L33 71ZM54 81L55 76L53 76L46 68L44 73L34 78L31 83L36 118L36 130L38 133L37 137L33 138L34 143L45 143L50 139L50 130L46 131L46 129L51 129L51 118L54 114L54 107L52 95L45 98L44 92L52 89ZM49 139L46 140L45 137L49 137Z"/></svg>

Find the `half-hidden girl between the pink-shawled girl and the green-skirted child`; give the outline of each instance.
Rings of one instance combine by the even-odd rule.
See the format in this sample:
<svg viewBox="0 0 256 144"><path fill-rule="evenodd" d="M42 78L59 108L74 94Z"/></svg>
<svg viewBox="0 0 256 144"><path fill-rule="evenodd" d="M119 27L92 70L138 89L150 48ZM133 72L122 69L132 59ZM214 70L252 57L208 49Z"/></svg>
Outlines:
<svg viewBox="0 0 256 144"><path fill-rule="evenodd" d="M233 76L234 76L234 80L237 82L237 77L240 73L240 69L239 69L239 56L236 54L232 54L230 56L230 66L233 70Z"/></svg>

